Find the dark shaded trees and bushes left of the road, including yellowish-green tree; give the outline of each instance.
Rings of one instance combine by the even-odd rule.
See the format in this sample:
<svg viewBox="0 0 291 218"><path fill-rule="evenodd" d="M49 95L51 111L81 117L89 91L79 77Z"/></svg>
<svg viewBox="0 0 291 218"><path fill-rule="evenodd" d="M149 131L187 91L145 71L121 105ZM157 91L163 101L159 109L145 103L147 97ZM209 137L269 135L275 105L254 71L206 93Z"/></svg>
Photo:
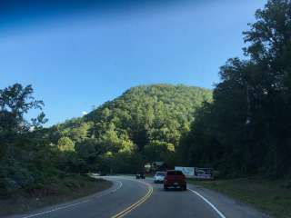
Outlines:
<svg viewBox="0 0 291 218"><path fill-rule="evenodd" d="M0 90L0 196L19 190L55 194L62 191L58 189L62 185L70 188L72 183L78 185L85 180L71 176L85 172L85 167L72 151L74 143L70 138L61 137L54 146L51 142L57 136L42 128L46 122L44 113L30 122L25 120L29 110L41 110L43 106L33 97L31 85L14 84Z"/></svg>

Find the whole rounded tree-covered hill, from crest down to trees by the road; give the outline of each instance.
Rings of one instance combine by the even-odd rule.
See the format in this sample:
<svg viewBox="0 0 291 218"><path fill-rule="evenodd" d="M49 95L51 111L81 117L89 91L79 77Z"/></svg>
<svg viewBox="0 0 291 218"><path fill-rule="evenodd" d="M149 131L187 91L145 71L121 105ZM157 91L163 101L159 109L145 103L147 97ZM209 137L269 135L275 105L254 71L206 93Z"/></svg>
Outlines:
<svg viewBox="0 0 291 218"><path fill-rule="evenodd" d="M211 99L212 91L199 87L136 86L82 118L55 125L53 141L64 150L75 149L93 168L107 167L109 159L116 172L132 169L131 163L174 163L196 109Z"/></svg>

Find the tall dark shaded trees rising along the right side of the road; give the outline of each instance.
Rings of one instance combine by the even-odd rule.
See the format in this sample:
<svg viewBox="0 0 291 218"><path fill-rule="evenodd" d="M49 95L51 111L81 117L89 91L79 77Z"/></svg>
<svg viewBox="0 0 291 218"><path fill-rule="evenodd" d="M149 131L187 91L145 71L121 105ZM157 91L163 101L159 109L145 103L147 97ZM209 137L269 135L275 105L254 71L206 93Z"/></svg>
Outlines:
<svg viewBox="0 0 291 218"><path fill-rule="evenodd" d="M268 1L244 35L249 59L221 67L213 103L181 140L184 163L233 176L290 175L291 1Z"/></svg>

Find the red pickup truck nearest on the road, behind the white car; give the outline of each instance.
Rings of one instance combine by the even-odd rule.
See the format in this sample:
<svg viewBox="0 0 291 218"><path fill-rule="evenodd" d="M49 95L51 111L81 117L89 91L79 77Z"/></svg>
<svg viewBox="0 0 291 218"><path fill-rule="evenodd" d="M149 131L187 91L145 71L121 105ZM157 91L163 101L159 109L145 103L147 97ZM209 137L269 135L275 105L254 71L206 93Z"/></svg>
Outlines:
<svg viewBox="0 0 291 218"><path fill-rule="evenodd" d="M169 187L177 188L186 191L186 176L181 171L170 170L166 172L164 179L164 190L167 191Z"/></svg>

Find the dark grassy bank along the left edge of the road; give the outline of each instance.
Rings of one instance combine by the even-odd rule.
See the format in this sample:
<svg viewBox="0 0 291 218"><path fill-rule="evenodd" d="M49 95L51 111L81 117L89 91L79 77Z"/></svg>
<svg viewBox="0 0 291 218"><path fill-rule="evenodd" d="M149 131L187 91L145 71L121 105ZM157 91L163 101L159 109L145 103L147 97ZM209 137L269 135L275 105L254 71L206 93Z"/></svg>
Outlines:
<svg viewBox="0 0 291 218"><path fill-rule="evenodd" d="M109 188L111 182L87 175L68 176L62 183L50 183L43 189L27 193L19 191L0 198L0 216L25 213L56 203L65 203Z"/></svg>

